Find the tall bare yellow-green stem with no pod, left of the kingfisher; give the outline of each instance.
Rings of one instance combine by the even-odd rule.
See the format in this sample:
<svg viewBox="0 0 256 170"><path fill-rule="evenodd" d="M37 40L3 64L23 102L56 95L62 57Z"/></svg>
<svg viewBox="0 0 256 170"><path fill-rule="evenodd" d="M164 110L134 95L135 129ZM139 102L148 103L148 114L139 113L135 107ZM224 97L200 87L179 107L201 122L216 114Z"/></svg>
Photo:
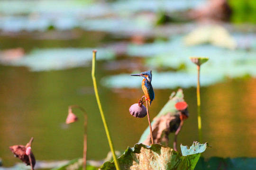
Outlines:
<svg viewBox="0 0 256 170"><path fill-rule="evenodd" d="M95 92L96 100L97 100L99 110L100 110L100 113L101 113L101 119L102 119L102 122L103 122L103 125L104 125L104 128L105 128L105 132L106 132L106 135L107 135L107 138L108 138L108 142L109 142L109 145L110 145L110 150L111 150L112 155L113 155L114 163L115 163L116 169L120 170L119 162L117 160L117 156L116 156L116 153L115 153L115 150L114 150L114 146L112 144L109 128L108 128L108 125L107 125L107 122L106 122L106 119L105 119L105 116L104 116L104 113L103 113L103 110L102 110L102 107L101 107L101 101L100 101L100 97L99 97L99 93L98 93L98 89L97 89L97 83L96 83L96 77L95 77L96 52L97 52L96 50L92 51L92 68L91 68L91 77L92 77L92 81L93 81L94 92Z"/></svg>

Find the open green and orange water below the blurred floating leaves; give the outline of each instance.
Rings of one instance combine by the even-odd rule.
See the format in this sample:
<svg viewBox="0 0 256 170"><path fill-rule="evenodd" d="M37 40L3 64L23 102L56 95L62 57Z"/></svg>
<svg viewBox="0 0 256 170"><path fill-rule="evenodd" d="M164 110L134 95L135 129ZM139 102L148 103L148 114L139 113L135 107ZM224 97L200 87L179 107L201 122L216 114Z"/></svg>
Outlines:
<svg viewBox="0 0 256 170"><path fill-rule="evenodd" d="M98 64L97 76L107 76ZM33 152L38 160L63 160L82 156L82 121L64 124L67 107L78 104L88 112L88 159L103 159L109 145L96 104L90 68L28 72L27 68L0 66L0 157L5 166L17 160L8 147L26 144L34 136ZM203 141L212 148L205 157L256 157L256 79L233 80L201 89ZM155 90L150 107L153 118L177 89ZM141 89L99 87L103 109L115 149L133 146L147 127L146 119L132 117L128 108L138 101ZM178 143L198 140L196 89L183 89L190 118L185 120ZM82 113L75 110L80 120ZM172 136L171 138L173 138ZM172 143L172 140L170 141Z"/></svg>

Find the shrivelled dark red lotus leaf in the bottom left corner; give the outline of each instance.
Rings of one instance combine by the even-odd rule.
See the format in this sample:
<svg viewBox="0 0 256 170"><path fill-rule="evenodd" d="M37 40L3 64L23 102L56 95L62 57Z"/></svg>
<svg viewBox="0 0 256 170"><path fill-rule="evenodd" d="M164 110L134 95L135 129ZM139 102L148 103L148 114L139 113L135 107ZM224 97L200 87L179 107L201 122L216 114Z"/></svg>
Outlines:
<svg viewBox="0 0 256 170"><path fill-rule="evenodd" d="M26 154L26 146L24 145L13 145L9 147L10 151L14 154L15 157L18 157L21 161L26 163L27 165L30 165L28 155ZM32 151L30 151L32 166L34 168L36 164L36 158Z"/></svg>

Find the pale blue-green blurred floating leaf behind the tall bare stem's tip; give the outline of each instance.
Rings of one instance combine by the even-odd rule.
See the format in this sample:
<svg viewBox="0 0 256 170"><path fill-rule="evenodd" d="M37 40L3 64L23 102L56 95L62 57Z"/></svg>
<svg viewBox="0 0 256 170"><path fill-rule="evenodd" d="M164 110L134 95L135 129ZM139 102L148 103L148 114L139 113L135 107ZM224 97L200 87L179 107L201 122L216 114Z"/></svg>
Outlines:
<svg viewBox="0 0 256 170"><path fill-rule="evenodd" d="M8 63L1 59L0 64L12 66L26 66L31 71L62 70L89 66L91 64L91 48L53 48L36 49L19 59L9 60ZM115 53L108 49L99 49L98 60L110 60L115 58Z"/></svg>

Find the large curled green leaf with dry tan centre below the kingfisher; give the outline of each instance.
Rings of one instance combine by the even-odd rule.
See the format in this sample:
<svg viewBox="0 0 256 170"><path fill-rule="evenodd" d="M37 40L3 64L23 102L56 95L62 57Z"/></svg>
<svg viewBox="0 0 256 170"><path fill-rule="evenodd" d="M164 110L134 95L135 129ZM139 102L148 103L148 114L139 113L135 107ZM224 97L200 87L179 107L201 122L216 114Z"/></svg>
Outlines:
<svg viewBox="0 0 256 170"><path fill-rule="evenodd" d="M206 148L206 145L203 145ZM204 149L205 150L205 149ZM203 151L202 151L203 152ZM121 170L193 170L199 160L201 151L182 156L172 148L161 144L135 144L119 158ZM100 170L116 170L114 162L105 162Z"/></svg>

